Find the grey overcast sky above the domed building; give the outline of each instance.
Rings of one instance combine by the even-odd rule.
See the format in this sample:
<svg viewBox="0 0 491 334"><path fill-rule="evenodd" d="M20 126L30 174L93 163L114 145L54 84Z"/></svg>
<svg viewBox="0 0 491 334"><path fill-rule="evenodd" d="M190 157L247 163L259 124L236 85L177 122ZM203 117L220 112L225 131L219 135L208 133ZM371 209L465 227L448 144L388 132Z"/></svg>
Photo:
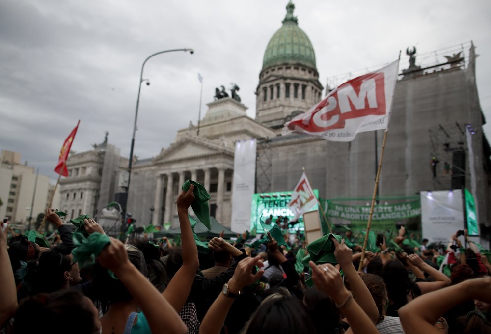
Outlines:
<svg viewBox="0 0 491 334"><path fill-rule="evenodd" d="M80 119L72 150L90 150L105 131L129 155L138 79L145 65L135 154L157 155L176 131L197 123L215 87L234 82L255 116L254 91L264 51L281 27L287 0L3 0L0 1L0 148L52 179L63 140ZM491 1L294 1L300 28L315 50L320 81L342 83L351 72L397 58L407 68L444 62L477 46L481 107L491 123ZM453 48L448 48L452 47ZM445 49L447 48L447 49ZM445 49L445 50L443 50ZM436 50L436 53L434 52ZM331 84L332 85L332 84ZM491 124L485 126L491 139Z"/></svg>

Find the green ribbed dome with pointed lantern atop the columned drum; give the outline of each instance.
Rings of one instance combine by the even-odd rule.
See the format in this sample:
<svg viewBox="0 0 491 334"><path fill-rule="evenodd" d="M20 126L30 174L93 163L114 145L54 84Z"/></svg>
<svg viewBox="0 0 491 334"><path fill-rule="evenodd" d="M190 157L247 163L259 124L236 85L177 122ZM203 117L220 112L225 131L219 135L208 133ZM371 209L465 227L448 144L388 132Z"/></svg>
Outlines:
<svg viewBox="0 0 491 334"><path fill-rule="evenodd" d="M273 65L302 64L316 68L312 43L298 26L293 16L295 5L290 1L286 6L283 26L271 37L263 58L263 70Z"/></svg>

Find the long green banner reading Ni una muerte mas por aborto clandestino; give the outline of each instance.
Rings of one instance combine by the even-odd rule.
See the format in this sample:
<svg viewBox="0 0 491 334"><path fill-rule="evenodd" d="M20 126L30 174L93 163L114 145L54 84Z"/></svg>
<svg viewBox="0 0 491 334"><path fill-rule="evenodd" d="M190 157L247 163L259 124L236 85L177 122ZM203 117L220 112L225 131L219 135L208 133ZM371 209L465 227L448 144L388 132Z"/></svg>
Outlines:
<svg viewBox="0 0 491 334"><path fill-rule="evenodd" d="M329 202L327 216L350 221L368 220L370 206L352 206ZM412 201L390 205L375 205L372 220L407 219L421 215L421 202Z"/></svg>

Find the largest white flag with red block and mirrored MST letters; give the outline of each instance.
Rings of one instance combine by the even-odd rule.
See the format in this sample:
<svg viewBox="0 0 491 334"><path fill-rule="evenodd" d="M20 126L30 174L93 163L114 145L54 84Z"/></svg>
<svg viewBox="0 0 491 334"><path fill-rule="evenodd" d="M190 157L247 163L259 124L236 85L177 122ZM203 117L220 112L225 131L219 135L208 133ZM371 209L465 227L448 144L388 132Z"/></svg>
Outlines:
<svg viewBox="0 0 491 334"><path fill-rule="evenodd" d="M333 141L352 141L359 132L386 129L399 60L342 83L324 100L287 122L283 134L305 133Z"/></svg>

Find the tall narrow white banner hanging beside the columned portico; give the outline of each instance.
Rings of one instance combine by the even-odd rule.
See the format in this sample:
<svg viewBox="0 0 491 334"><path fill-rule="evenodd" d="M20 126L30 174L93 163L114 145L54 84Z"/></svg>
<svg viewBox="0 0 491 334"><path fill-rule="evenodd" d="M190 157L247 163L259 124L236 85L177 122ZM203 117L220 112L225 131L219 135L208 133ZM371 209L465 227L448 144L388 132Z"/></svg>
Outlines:
<svg viewBox="0 0 491 334"><path fill-rule="evenodd" d="M235 143L230 229L242 233L250 228L252 195L256 180L256 139Z"/></svg>

